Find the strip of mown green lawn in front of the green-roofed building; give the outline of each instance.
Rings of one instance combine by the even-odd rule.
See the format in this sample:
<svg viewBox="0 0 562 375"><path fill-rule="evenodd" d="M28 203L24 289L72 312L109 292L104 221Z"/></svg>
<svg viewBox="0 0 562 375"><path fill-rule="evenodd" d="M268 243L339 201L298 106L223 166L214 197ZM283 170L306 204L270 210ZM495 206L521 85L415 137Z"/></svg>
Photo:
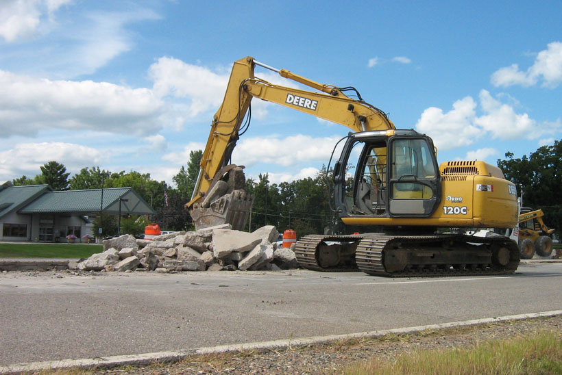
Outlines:
<svg viewBox="0 0 562 375"><path fill-rule="evenodd" d="M102 251L90 244L0 244L0 258L87 258Z"/></svg>

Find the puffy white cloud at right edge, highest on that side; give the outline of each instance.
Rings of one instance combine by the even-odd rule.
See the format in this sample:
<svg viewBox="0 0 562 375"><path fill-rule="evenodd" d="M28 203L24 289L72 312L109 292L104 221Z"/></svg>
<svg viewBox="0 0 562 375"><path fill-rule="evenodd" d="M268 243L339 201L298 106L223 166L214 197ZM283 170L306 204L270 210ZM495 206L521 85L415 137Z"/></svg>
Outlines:
<svg viewBox="0 0 562 375"><path fill-rule="evenodd" d="M534 86L542 81L543 87L555 88L562 83L562 42L549 43L547 49L537 54L535 63L526 71L517 64L500 68L491 75L493 86Z"/></svg>

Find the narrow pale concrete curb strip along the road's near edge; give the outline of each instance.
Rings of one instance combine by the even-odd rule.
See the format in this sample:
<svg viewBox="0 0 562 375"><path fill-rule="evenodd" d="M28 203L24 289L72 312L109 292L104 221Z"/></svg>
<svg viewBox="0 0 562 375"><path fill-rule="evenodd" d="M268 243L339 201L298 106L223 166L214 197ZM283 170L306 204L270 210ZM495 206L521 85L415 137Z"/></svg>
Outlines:
<svg viewBox="0 0 562 375"><path fill-rule="evenodd" d="M177 352L155 352L144 354L131 354L119 355L103 358L88 358L88 359L62 359L60 361L45 361L45 362L32 362L32 363L19 363L16 365L0 366L0 374L19 374L21 372L32 372L41 370L62 370L71 367L80 368L93 368L93 367L117 367L122 365L146 365L151 362L176 362L186 358L188 355L193 354L213 354L221 352L236 352L240 350L256 350L256 349L270 349L270 348L291 348L292 346L304 346L310 344L322 344L329 341L337 341L344 339L361 339L380 337L384 335L416 333L428 329L442 329L452 328L459 326L472 326L475 324L485 324L493 322L504 322L506 320L524 320L530 318L552 317L562 315L562 310L543 311L539 313L528 313L519 315L507 315L497 318L483 318L474 320L465 320L461 322L450 322L440 324L429 324L426 326L414 326L407 328L394 328L385 329L380 331L367 331L360 333L350 333L347 335L328 335L328 336L314 336L304 337L301 339L282 339L274 341L261 341L247 344L235 345L221 345L210 346L204 348L196 348L190 350L182 350Z"/></svg>

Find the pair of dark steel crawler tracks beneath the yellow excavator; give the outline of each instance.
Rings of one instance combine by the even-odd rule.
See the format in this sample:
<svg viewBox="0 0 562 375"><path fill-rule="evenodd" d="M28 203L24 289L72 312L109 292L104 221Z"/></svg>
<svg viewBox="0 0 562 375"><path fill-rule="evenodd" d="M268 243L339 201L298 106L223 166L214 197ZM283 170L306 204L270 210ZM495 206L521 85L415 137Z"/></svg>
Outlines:
<svg viewBox="0 0 562 375"><path fill-rule="evenodd" d="M511 274L520 263L517 244L502 236L308 235L295 254L308 270L389 277Z"/></svg>

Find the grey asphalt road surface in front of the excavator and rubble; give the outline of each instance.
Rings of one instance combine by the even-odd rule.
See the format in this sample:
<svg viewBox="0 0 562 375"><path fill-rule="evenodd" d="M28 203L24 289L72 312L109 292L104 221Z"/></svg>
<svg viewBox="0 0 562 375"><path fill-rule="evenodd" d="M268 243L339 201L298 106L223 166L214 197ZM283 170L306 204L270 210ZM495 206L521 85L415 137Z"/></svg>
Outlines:
<svg viewBox="0 0 562 375"><path fill-rule="evenodd" d="M184 350L562 309L562 263L511 276L0 274L0 365Z"/></svg>

